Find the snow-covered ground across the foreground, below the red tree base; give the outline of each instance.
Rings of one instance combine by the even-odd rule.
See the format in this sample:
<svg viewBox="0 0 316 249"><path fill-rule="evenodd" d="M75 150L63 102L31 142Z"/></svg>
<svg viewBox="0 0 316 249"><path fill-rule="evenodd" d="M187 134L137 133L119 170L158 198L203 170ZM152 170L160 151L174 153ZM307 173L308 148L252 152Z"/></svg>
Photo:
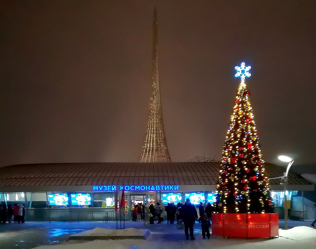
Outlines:
<svg viewBox="0 0 316 249"><path fill-rule="evenodd" d="M111 230L111 229L109 229ZM120 230L119 230L120 231ZM119 232L118 231L118 232ZM114 232L114 231L113 231ZM89 232L87 232L88 234ZM117 233L117 232L115 232ZM69 241L54 246L39 246L36 249L313 249L316 245L316 229L307 226L298 226L292 229L279 229L279 238L274 239L223 239L219 236L211 239L201 239L201 234L196 234L197 240L184 240L184 231L177 230L169 238L153 233L147 240L96 240L89 242Z"/></svg>

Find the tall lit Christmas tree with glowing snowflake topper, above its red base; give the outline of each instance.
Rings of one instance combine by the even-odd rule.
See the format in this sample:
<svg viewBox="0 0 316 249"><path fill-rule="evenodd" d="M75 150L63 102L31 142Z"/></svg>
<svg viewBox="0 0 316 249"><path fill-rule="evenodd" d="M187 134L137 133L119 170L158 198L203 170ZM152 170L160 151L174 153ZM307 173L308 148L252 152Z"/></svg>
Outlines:
<svg viewBox="0 0 316 249"><path fill-rule="evenodd" d="M250 66L236 66L241 78L233 115L222 154L218 177L216 210L220 213L270 213L274 205L270 184L264 174L258 133L253 119L245 78L251 76Z"/></svg>

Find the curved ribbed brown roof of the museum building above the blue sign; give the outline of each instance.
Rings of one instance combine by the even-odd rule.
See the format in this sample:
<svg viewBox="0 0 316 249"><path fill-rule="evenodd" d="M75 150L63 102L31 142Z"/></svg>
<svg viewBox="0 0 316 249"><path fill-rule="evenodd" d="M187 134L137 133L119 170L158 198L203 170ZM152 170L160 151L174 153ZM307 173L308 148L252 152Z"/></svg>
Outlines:
<svg viewBox="0 0 316 249"><path fill-rule="evenodd" d="M0 168L0 187L25 186L25 191L28 191L27 186L215 185L220 164L221 162L19 164ZM268 178L283 176L285 171L284 167L270 163L265 163L264 167ZM281 178L271 179L270 184L280 184L280 180ZM288 184L313 186L293 172L289 172Z"/></svg>

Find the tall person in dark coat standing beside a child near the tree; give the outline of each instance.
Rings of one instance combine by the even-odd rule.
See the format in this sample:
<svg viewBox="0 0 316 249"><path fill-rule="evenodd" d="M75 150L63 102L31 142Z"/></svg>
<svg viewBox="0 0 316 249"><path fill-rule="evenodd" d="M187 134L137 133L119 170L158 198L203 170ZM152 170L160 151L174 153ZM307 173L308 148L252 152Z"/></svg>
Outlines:
<svg viewBox="0 0 316 249"><path fill-rule="evenodd" d="M189 231L190 231L190 237L191 240L195 240L194 234L193 234L193 225L195 221L197 221L197 210L195 209L195 206L190 203L190 199L186 199L185 204L181 207L181 218L184 223L184 233L185 238L189 239Z"/></svg>

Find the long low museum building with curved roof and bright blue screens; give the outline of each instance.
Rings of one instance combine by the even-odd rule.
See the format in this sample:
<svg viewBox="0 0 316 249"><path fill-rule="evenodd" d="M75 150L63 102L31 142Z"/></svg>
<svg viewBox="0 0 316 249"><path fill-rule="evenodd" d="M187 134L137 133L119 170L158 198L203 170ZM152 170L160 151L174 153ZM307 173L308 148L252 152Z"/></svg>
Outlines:
<svg viewBox="0 0 316 249"><path fill-rule="evenodd" d="M46 163L0 168L0 201L23 203L26 220L112 220L115 198L125 191L125 218L134 204L184 203L198 205L215 201L221 162L166 163ZM265 163L268 178L280 177L284 168ZM287 191L281 178L271 179L271 196L280 218L284 217L283 196L291 211L302 218L313 215L304 205L303 192L314 185L289 172ZM305 201L306 202L306 201ZM305 210L304 210L305 209ZM310 211L309 211L310 210ZM311 214L309 214L311 212Z"/></svg>

